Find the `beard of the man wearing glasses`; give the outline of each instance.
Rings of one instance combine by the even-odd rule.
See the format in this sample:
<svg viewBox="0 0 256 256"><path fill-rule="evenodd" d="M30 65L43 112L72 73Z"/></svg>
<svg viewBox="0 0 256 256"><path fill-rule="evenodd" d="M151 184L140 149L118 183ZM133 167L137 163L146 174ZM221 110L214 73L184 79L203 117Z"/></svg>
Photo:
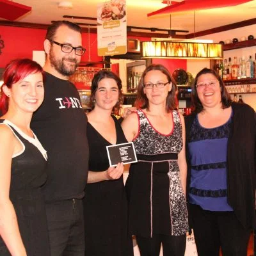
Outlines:
<svg viewBox="0 0 256 256"><path fill-rule="evenodd" d="M49 58L50 58L51 66L54 67L63 76L71 76L72 74L74 74L74 72L76 71L76 68L79 65L79 62L77 61L76 58L64 56L63 58L58 60L54 52L52 51L52 49L49 53ZM73 63L73 65L71 65L71 63L70 65L68 65L67 63L65 63L65 61L69 61Z"/></svg>

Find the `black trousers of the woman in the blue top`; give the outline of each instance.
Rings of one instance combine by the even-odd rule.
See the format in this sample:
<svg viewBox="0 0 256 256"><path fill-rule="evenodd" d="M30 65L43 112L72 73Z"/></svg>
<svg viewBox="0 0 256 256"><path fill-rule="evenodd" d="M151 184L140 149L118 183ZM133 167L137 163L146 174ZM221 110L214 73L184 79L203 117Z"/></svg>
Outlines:
<svg viewBox="0 0 256 256"><path fill-rule="evenodd" d="M189 205L198 256L246 256L251 230L244 229L234 212L205 211Z"/></svg>

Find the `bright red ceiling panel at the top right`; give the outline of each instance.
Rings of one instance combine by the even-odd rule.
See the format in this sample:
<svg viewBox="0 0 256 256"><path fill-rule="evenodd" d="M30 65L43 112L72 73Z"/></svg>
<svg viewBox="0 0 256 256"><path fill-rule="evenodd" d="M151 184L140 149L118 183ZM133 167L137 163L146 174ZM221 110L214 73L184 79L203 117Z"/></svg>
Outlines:
<svg viewBox="0 0 256 256"><path fill-rule="evenodd" d="M161 15L173 12L205 10L213 8L221 8L234 6L250 2L252 0L184 0L182 2L173 2L172 5L166 6L156 12L148 13L148 17L153 15Z"/></svg>

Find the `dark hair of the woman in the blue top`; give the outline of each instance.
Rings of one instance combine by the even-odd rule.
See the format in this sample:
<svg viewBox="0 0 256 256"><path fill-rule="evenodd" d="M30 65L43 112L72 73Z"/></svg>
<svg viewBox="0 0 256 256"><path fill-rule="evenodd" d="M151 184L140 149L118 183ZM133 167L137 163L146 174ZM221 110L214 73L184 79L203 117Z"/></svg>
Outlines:
<svg viewBox="0 0 256 256"><path fill-rule="evenodd" d="M225 87L225 84L223 83L223 80L221 79L221 77L214 70L212 70L210 68L203 68L196 75L194 84L192 86L191 99L192 99L192 104L193 104L194 111L196 113L200 113L202 110L204 110L204 106L202 105L202 103L201 103L201 101L198 97L198 94L197 94L196 84L197 84L198 78L202 75L205 75L205 74L212 74L219 81L220 88L221 88L222 108L223 109L228 108L231 105L232 100L231 100L230 95L227 92L227 89Z"/></svg>

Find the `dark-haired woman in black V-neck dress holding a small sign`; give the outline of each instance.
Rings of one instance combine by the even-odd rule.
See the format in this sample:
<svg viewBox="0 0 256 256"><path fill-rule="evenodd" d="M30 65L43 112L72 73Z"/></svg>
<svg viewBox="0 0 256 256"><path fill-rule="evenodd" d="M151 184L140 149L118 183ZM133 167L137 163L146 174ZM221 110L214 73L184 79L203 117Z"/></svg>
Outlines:
<svg viewBox="0 0 256 256"><path fill-rule="evenodd" d="M86 256L130 256L127 236L127 198L124 164L109 166L106 147L127 142L121 125L111 115L122 104L122 82L113 72L101 70L92 80L87 137L90 148L88 184L85 189L84 230Z"/></svg>

